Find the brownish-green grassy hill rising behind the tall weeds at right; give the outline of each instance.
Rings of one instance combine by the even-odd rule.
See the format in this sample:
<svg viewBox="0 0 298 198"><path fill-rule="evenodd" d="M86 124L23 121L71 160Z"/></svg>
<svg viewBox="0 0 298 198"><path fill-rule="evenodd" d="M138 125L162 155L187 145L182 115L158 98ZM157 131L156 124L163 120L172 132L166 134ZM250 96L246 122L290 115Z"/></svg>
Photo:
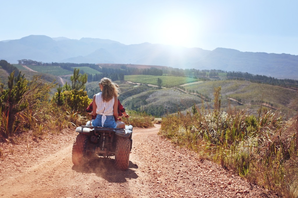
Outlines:
<svg viewBox="0 0 298 198"><path fill-rule="evenodd" d="M255 113L260 107L260 101L262 100L263 103L270 104L283 113L288 113L290 110L297 111L297 92L279 86L251 83L249 81L225 80L184 85L184 88L198 91L213 98L213 89L218 86L221 86L222 108L228 107L227 98L233 98L245 105L238 106L237 103L230 102L232 106L238 106L241 109L250 108L252 113ZM292 112L292 114L295 112Z"/></svg>

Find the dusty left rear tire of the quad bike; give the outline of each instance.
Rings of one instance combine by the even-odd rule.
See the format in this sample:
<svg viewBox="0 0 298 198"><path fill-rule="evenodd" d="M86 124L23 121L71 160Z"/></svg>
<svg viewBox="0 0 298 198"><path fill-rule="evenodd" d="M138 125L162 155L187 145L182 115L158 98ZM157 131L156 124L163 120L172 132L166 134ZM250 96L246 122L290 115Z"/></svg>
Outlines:
<svg viewBox="0 0 298 198"><path fill-rule="evenodd" d="M72 146L72 163L75 166L84 163L84 158L87 156L88 136L78 134Z"/></svg>

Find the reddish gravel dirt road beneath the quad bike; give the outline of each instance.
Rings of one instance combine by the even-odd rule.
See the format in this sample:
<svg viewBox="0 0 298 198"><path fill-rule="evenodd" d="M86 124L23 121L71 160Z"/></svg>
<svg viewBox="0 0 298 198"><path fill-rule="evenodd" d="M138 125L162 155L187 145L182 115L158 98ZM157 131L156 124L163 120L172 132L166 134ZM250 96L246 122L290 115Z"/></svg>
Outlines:
<svg viewBox="0 0 298 198"><path fill-rule="evenodd" d="M73 130L38 143L2 144L2 197L274 197L195 153L157 135L160 125L134 128L126 171L114 159L96 159L84 168L72 164Z"/></svg>

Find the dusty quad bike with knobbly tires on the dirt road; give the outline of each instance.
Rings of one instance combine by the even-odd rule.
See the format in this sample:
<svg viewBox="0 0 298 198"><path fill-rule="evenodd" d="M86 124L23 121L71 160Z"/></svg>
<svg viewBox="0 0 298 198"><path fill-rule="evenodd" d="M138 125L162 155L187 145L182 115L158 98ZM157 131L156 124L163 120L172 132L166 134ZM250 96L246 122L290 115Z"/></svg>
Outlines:
<svg viewBox="0 0 298 198"><path fill-rule="evenodd" d="M96 127L91 126L90 121L86 126L77 127L75 131L79 134L72 146L72 163L79 166L94 156L115 156L116 167L126 170L132 148L132 129L131 125L126 125L125 129Z"/></svg>

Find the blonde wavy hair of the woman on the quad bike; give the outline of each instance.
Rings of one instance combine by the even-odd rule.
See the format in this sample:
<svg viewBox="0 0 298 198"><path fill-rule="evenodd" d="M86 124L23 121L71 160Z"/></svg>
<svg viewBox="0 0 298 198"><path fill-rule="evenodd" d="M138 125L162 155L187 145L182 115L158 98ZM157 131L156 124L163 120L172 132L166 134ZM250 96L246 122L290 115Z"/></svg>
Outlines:
<svg viewBox="0 0 298 198"><path fill-rule="evenodd" d="M102 78L98 85L103 85L102 99L105 102L110 101L114 96L118 96L120 89L116 83L109 78Z"/></svg>

